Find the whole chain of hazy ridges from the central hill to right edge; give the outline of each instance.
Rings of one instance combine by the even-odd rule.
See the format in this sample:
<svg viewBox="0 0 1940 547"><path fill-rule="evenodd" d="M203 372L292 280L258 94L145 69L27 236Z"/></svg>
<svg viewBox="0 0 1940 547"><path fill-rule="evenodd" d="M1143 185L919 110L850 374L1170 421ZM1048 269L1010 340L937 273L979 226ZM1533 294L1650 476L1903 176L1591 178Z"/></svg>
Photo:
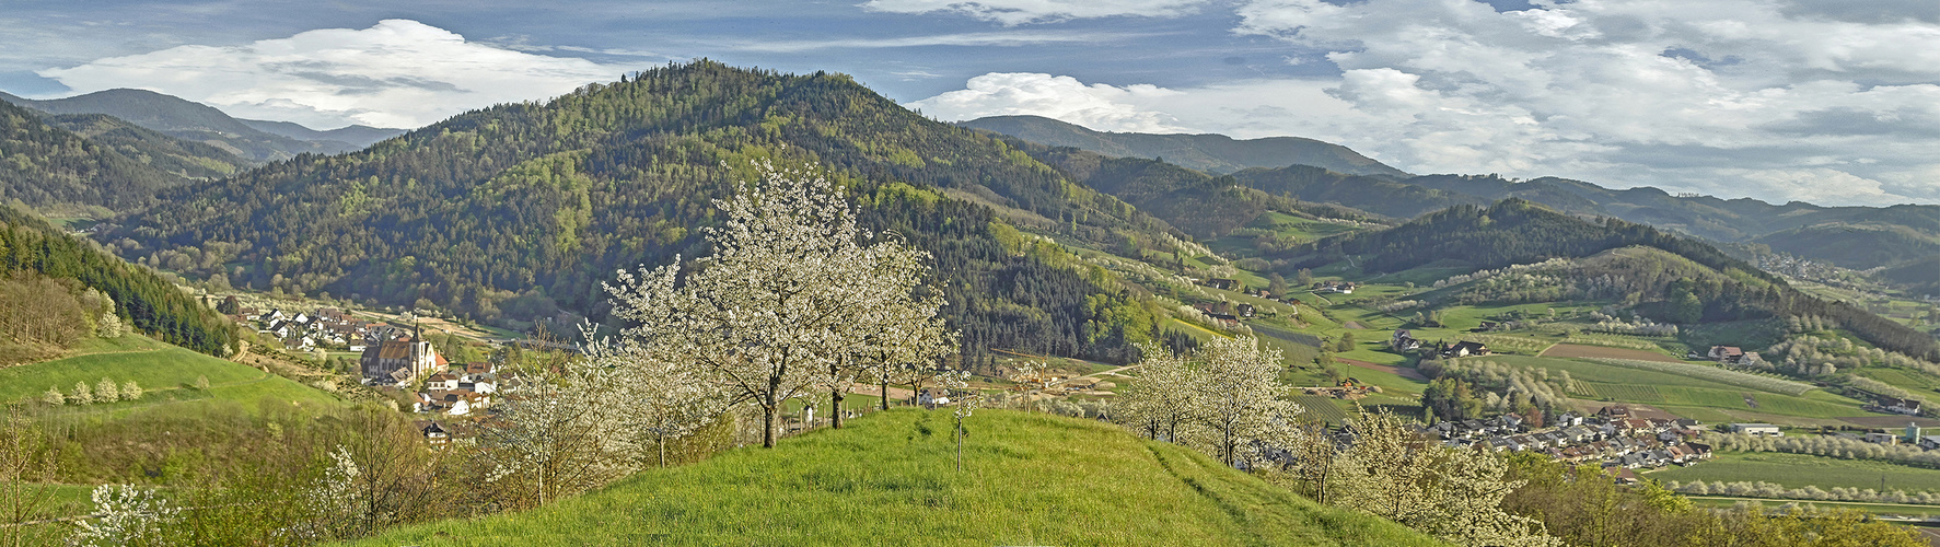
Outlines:
<svg viewBox="0 0 1940 547"><path fill-rule="evenodd" d="M1651 186L1604 188L1593 182L1542 177L1513 180L1496 175L1414 177L1348 147L1304 138L1234 140L1218 134L1096 132L1044 116L987 116L958 126L1007 134L1050 147L1077 147L1108 157L1162 159L1212 175L1228 173L1240 186L1271 196L1325 202L1375 215L1410 219L1453 206L1488 206L1521 198L1571 215L1618 217L1719 242L1765 244L1843 268L1870 270L1940 254L1940 206L1827 208L1804 202L1767 204L1752 198L1678 196ZM1042 155L1042 151L1036 151ZM1044 157L1040 157L1044 159ZM1069 159L1069 157L1067 157ZM1048 163L1067 163L1048 159ZM1168 175L1170 178L1189 178ZM1077 175L1077 178L1088 178ZM1110 180L1102 182L1108 188ZM1141 209L1162 211L1164 196L1131 198ZM1158 213L1174 225L1232 225ZM1244 223L1244 219L1240 221ZM1899 270L1897 279L1917 270ZM1919 283L1940 285L1940 272Z"/></svg>

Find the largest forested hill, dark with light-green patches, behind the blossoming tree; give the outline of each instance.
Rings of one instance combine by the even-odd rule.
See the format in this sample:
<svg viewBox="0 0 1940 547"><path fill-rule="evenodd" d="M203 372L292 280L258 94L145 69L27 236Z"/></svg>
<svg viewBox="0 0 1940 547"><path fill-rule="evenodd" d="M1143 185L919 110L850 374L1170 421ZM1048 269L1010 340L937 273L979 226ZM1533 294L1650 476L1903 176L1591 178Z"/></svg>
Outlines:
<svg viewBox="0 0 1940 547"><path fill-rule="evenodd" d="M704 252L696 227L714 221L710 198L755 180L753 159L830 169L865 219L933 252L966 351L1121 359L1127 338L1150 336L1150 314L1131 312L1139 303L1108 275L1053 266L1073 260L1032 250L1011 227L1162 246L1164 221L848 76L718 62L169 192L113 239L188 256L190 275L241 266L231 283L530 326L599 316L599 283L617 268Z"/></svg>

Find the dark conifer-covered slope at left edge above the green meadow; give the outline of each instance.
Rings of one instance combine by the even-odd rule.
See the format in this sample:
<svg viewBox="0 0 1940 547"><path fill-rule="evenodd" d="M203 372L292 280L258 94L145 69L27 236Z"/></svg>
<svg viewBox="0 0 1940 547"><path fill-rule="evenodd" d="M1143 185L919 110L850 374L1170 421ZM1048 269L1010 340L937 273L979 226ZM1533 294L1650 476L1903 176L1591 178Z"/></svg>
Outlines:
<svg viewBox="0 0 1940 547"><path fill-rule="evenodd" d="M155 272L122 262L85 239L68 237L45 219L0 208L0 275L72 279L114 301L124 324L163 341L225 357L237 332L229 318L177 289ZM10 303L23 295L4 295ZM48 308L48 306L43 306ZM48 316L45 320L62 320ZM17 332L6 336L17 338ZM17 343L19 339L4 339Z"/></svg>

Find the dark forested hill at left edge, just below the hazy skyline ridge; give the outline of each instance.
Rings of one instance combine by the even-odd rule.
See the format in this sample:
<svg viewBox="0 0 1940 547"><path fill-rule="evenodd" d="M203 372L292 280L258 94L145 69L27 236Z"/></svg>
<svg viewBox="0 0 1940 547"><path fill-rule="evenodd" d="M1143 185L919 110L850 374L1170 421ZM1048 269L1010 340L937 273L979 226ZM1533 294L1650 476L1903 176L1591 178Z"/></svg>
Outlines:
<svg viewBox="0 0 1940 547"><path fill-rule="evenodd" d="M89 130L105 120L74 120ZM155 192L188 182L182 175L219 171L221 161L202 165L186 149L144 140L142 136L105 132L113 145L81 138L70 130L47 124L41 114L0 103L0 200L19 200L31 208L105 213L147 206ZM134 153L134 157L122 151ZM142 161L147 155L149 161ZM190 171L202 165L204 171ZM178 167L184 173L163 169Z"/></svg>

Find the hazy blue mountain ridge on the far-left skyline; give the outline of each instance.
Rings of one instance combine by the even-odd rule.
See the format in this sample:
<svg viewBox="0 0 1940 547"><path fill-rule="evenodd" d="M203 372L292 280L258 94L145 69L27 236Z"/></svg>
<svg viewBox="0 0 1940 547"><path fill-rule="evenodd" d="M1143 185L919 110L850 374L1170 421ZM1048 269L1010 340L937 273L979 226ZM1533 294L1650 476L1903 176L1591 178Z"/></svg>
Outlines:
<svg viewBox="0 0 1940 547"><path fill-rule="evenodd" d="M376 140L404 134L404 130L367 126L316 132L291 122L239 120L210 105L144 89L107 89L47 101L0 93L0 101L48 114L109 114L180 140L223 147L256 163L289 159L299 153L355 151Z"/></svg>

